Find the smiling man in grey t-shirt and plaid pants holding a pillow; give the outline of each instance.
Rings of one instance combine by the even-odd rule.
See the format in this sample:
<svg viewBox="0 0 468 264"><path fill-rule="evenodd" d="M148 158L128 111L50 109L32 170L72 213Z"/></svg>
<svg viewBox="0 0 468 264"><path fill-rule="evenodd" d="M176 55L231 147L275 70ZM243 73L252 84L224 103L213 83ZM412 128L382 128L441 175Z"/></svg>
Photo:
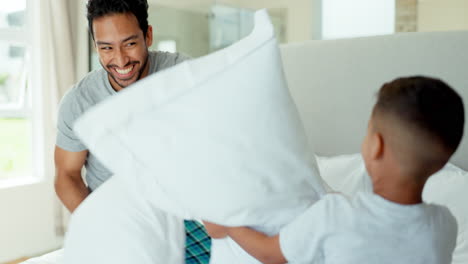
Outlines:
<svg viewBox="0 0 468 264"><path fill-rule="evenodd" d="M148 25L146 0L89 0L87 10L89 31L102 69L89 73L67 92L60 104L57 124L55 190L70 212L112 176L76 137L74 122L105 98L149 74L188 59L180 54L148 51L153 43L153 29ZM86 167L86 184L81 177L83 166ZM186 227L197 234L204 233L196 223L187 221ZM187 250L190 251L190 243L207 244L209 250L209 238L202 236L199 240L187 233ZM195 251L200 252L200 249ZM192 262L197 256L188 254L187 262L207 263L206 250L202 255L204 260Z"/></svg>

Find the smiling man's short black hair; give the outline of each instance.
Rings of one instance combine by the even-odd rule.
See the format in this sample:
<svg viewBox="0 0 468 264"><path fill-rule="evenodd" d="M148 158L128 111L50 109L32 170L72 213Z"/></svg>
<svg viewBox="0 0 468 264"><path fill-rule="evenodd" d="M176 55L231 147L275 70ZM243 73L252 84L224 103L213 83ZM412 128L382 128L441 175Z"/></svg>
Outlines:
<svg viewBox="0 0 468 264"><path fill-rule="evenodd" d="M98 17L131 13L138 20L143 36L148 31L148 2L146 0L89 0L88 5L89 32L94 39L93 20Z"/></svg>

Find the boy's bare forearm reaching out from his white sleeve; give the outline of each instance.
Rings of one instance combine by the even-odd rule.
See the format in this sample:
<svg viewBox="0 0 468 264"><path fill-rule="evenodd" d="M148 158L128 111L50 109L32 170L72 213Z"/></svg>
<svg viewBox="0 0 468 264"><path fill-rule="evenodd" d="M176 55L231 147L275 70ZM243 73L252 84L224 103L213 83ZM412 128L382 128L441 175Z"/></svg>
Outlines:
<svg viewBox="0 0 468 264"><path fill-rule="evenodd" d="M286 263L279 235L269 237L248 227L228 227L227 234L247 253L264 264Z"/></svg>

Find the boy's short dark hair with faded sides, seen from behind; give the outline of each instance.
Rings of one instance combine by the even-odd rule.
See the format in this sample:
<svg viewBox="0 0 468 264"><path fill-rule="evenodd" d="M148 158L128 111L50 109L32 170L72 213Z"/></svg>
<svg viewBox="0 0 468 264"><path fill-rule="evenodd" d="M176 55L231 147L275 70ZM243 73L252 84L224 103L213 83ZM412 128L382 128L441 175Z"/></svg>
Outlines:
<svg viewBox="0 0 468 264"><path fill-rule="evenodd" d="M382 86L375 111L393 114L408 125L428 133L450 152L463 137L463 100L445 82L414 76L399 78Z"/></svg>

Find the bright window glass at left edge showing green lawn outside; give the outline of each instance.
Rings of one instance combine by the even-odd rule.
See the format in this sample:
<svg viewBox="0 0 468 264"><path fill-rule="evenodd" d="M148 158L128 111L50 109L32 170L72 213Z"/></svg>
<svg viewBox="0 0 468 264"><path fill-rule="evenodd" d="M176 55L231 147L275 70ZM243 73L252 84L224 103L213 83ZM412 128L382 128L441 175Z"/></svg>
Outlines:
<svg viewBox="0 0 468 264"><path fill-rule="evenodd" d="M0 5L0 181L31 175L28 1Z"/></svg>

